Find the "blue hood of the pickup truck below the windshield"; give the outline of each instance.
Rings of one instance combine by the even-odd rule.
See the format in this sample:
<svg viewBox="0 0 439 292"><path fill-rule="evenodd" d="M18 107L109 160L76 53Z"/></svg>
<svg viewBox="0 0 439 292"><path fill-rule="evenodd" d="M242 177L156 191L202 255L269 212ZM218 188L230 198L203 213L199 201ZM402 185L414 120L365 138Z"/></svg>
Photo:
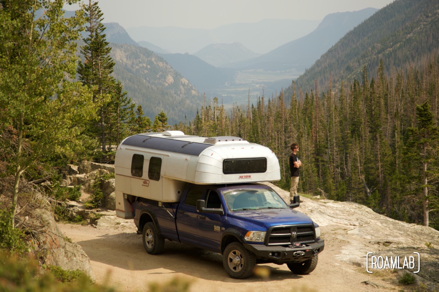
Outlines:
<svg viewBox="0 0 439 292"><path fill-rule="evenodd" d="M267 229L273 225L312 223L311 218L291 209L258 209L229 213L230 217L247 222L250 225L264 225Z"/></svg>

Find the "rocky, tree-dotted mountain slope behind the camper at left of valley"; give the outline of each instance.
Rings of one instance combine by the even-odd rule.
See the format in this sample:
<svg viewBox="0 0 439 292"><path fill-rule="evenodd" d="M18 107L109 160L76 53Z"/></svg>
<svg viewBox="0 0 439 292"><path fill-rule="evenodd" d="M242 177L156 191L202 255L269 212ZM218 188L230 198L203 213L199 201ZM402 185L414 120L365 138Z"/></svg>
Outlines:
<svg viewBox="0 0 439 292"><path fill-rule="evenodd" d="M146 116L154 120L161 110L174 124L194 118L202 97L186 78L162 57L138 45L111 43L113 76Z"/></svg>

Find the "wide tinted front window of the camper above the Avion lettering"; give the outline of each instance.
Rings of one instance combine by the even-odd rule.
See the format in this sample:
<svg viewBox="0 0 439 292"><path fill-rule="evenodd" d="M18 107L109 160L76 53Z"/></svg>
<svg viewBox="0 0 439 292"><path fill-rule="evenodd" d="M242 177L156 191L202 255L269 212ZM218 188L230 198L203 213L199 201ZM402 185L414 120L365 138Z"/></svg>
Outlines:
<svg viewBox="0 0 439 292"><path fill-rule="evenodd" d="M223 173L255 173L267 171L267 158L234 158L223 160Z"/></svg>

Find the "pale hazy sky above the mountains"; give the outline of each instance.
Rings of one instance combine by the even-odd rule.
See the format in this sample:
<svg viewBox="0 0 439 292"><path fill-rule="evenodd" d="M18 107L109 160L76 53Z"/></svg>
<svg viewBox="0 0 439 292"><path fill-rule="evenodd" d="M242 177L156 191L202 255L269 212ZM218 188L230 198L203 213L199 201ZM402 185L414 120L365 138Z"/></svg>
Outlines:
<svg viewBox="0 0 439 292"><path fill-rule="evenodd" d="M89 1L86 1L88 3ZM100 0L103 23L124 28L176 26L217 28L263 19L321 20L327 14L382 8L393 0ZM65 10L78 6L65 5Z"/></svg>

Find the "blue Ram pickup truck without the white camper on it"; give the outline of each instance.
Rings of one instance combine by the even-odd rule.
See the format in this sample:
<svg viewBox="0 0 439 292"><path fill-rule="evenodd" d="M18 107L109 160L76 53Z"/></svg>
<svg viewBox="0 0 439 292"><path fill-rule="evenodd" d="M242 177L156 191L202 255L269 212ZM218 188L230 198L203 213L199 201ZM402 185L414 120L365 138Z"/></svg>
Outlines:
<svg viewBox="0 0 439 292"><path fill-rule="evenodd" d="M287 264L308 274L324 248L320 228L263 184L188 184L180 203L137 197L134 222L145 250L161 253L165 239L223 254L231 278L252 275L256 263Z"/></svg>

